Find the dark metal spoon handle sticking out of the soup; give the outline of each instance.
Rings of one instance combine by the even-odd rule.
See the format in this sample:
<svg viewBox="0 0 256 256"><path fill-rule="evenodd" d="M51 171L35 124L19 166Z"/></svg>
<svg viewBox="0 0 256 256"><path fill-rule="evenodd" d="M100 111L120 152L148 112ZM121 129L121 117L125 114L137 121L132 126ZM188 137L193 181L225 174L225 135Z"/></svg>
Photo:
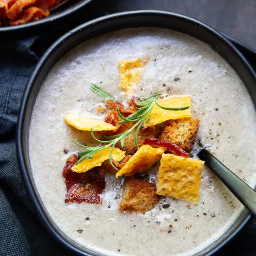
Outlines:
<svg viewBox="0 0 256 256"><path fill-rule="evenodd" d="M256 191L249 187L236 174L231 172L208 150L201 149L198 157L208 165L220 180L229 188L237 199L254 215L256 215Z"/></svg>

